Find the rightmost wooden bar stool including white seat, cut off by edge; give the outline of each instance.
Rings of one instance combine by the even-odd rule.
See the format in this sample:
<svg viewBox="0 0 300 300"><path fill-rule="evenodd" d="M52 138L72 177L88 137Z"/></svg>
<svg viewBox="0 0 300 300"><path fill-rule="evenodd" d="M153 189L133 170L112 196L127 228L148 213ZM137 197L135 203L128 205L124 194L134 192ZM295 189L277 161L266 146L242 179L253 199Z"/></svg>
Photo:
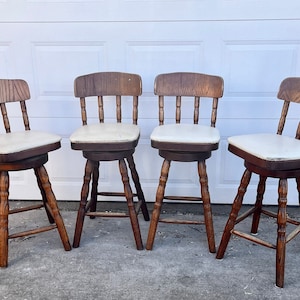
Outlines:
<svg viewBox="0 0 300 300"><path fill-rule="evenodd" d="M224 257L231 234L245 238L259 245L276 250L276 285L284 285L284 264L286 244L300 232L300 222L291 220L286 212L288 179L295 178L300 192L300 125L296 137L282 135L286 117L291 102L300 103L300 78L286 78L282 81L278 98L284 100L277 134L250 134L233 136L228 139L228 149L233 154L244 159L246 170L241 179L237 195L225 226L217 258ZM299 123L300 124L300 123ZM239 215L243 198L249 185L252 173L259 175L256 202L253 208ZM268 177L278 178L278 212L273 213L263 208L263 196ZM253 216L251 233L256 234L260 215L266 214L277 219L277 241L262 240L235 229L235 225ZM295 230L286 234L287 223L294 224Z"/></svg>

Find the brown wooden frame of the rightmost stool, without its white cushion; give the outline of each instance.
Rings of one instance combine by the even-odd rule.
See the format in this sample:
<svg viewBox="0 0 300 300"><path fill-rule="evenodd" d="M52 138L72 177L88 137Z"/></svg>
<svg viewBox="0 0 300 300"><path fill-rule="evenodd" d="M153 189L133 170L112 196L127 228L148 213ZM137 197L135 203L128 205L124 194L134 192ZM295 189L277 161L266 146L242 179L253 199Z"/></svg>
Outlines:
<svg viewBox="0 0 300 300"><path fill-rule="evenodd" d="M282 81L278 99L284 100L281 116L278 123L277 134L282 134L284 125L286 123L290 102L300 103L300 78L286 78ZM296 131L295 138L299 139L299 126ZM245 161L246 170L241 179L240 186L238 188L237 195L234 199L232 209L224 228L222 239L217 252L217 258L224 257L227 245L229 243L231 234L238 235L259 245L266 246L268 248L276 249L276 285L278 287L284 286L284 265L285 265L285 252L286 244L292 240L300 232L300 222L288 218L286 212L287 205L287 179L295 178L297 182L298 192L300 191L300 160L289 161L272 161L263 160L247 150L241 150L238 147L229 145L229 151L237 156L240 156ZM259 182L257 187L256 202L253 208L250 208L244 214L239 216L239 211L242 207L243 198L246 193L247 187L250 182L251 174L256 173L259 175ZM278 212L274 214L268 210L263 209L263 196L266 188L266 180L268 177L278 178ZM277 219L277 241L271 243L269 241L262 240L253 235L235 230L234 227L245 218L252 216L251 233L256 234L258 231L259 221L261 214L268 215ZM296 227L288 236L286 236L286 224L290 223Z"/></svg>

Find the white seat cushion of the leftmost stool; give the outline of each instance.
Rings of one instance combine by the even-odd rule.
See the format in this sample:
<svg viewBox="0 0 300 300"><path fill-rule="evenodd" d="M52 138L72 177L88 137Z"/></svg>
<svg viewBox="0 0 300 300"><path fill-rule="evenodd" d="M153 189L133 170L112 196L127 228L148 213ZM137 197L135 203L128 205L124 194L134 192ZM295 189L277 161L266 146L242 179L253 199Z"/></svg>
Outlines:
<svg viewBox="0 0 300 300"><path fill-rule="evenodd" d="M61 137L56 134L34 130L0 134L0 155L32 150L60 141Z"/></svg>

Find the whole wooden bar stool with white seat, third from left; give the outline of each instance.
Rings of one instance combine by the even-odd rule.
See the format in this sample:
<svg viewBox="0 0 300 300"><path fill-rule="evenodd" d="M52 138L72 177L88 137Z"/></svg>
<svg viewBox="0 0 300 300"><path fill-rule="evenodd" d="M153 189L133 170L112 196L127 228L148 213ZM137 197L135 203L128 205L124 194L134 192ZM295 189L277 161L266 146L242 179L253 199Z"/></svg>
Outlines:
<svg viewBox="0 0 300 300"><path fill-rule="evenodd" d="M215 237L208 191L206 173L206 159L213 150L218 149L220 135L215 128L217 118L218 100L223 96L223 79L199 73L169 73L160 74L154 83L154 93L159 99L159 126L151 134L151 146L159 150L159 155L164 161L161 168L159 185L156 192L156 201L152 212L146 249L151 250L158 226L158 222L178 224L205 224L210 252L215 252ZM164 124L164 98L171 96L175 100L176 124ZM210 126L200 125L199 107L202 101L212 100ZM191 124L181 122L181 108L183 103L194 101L191 113ZM203 102L202 102L203 103ZM201 197L167 196L165 195L166 183L172 161L197 162ZM204 222L189 220L169 220L160 218L163 200L173 201L202 201L204 208Z"/></svg>

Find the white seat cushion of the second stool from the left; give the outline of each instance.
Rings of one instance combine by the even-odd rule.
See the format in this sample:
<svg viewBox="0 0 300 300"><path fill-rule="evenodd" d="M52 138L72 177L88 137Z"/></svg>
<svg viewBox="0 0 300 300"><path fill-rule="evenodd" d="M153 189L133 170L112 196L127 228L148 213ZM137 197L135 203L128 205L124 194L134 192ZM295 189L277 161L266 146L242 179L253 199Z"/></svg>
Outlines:
<svg viewBox="0 0 300 300"><path fill-rule="evenodd" d="M98 123L84 125L70 136L71 143L124 143L139 139L138 125L127 123Z"/></svg>

